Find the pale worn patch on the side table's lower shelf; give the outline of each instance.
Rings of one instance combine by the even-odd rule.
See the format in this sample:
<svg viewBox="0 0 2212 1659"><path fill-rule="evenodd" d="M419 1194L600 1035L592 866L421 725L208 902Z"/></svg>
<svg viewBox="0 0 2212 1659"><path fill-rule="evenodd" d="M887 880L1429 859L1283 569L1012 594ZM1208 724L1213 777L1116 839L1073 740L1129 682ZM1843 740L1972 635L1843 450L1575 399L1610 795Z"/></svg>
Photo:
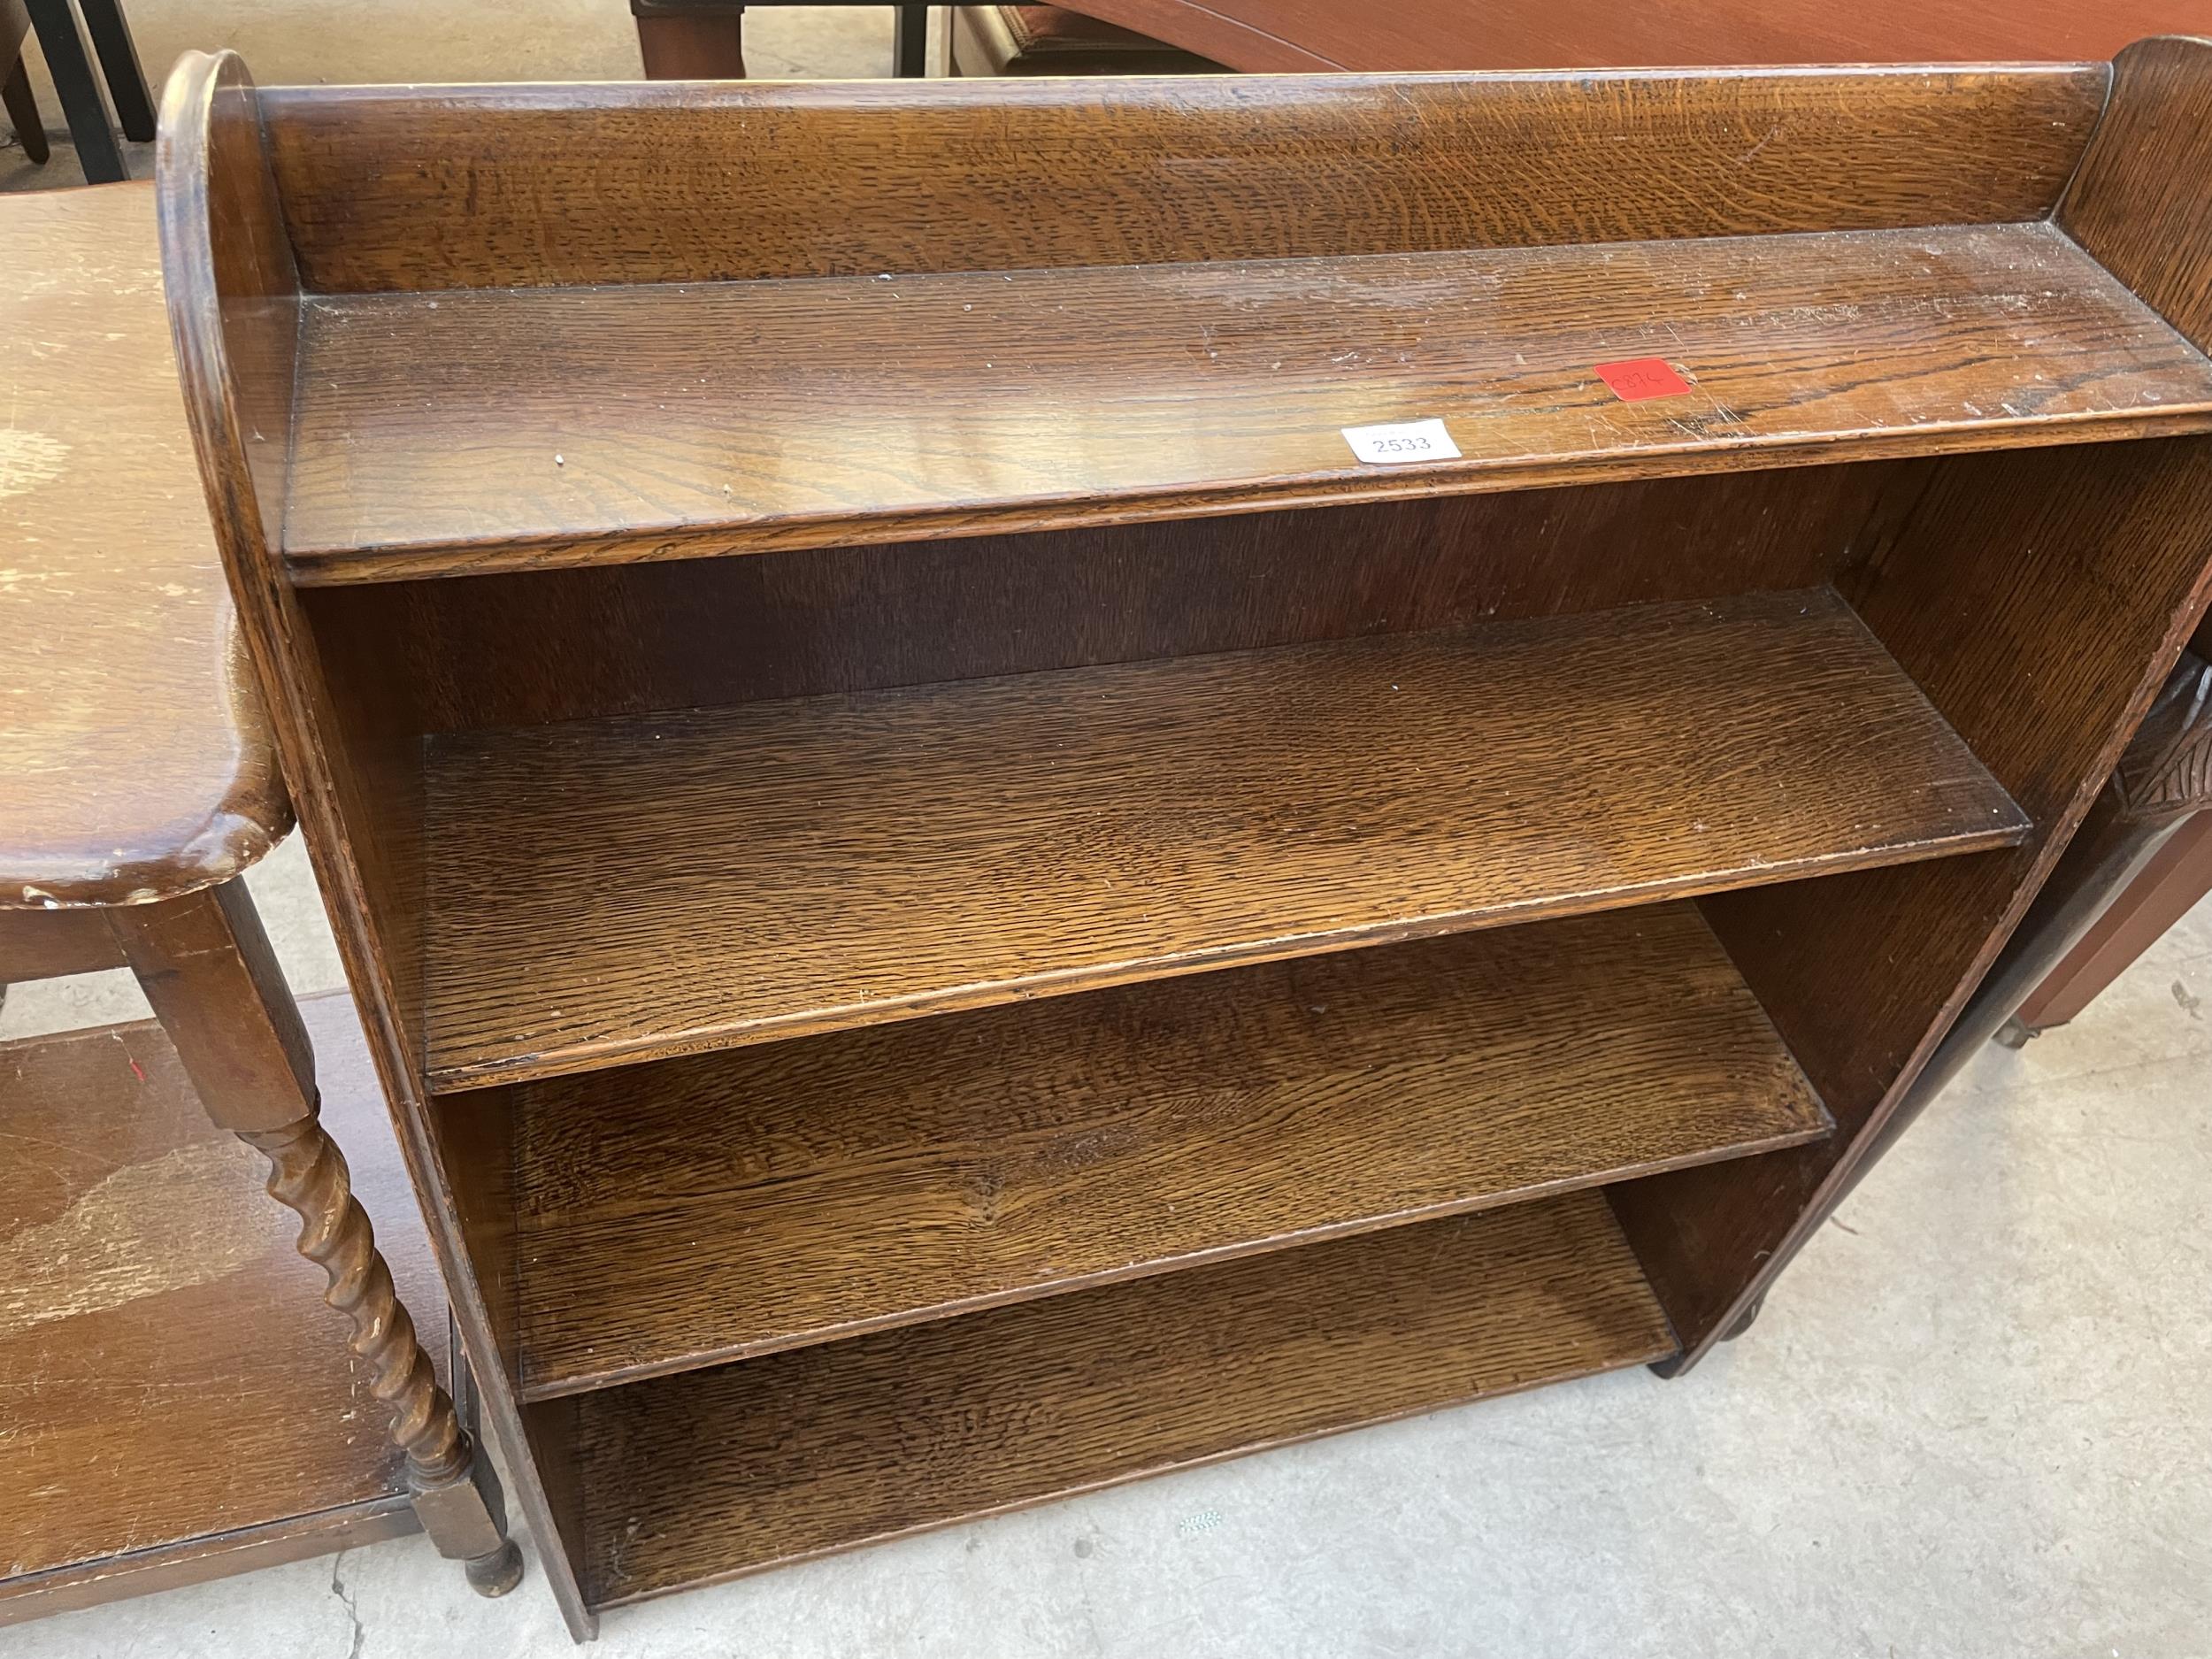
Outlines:
<svg viewBox="0 0 2212 1659"><path fill-rule="evenodd" d="M126 1164L51 1221L0 1239L0 1336L206 1285L259 1261L283 1210L243 1141Z"/></svg>

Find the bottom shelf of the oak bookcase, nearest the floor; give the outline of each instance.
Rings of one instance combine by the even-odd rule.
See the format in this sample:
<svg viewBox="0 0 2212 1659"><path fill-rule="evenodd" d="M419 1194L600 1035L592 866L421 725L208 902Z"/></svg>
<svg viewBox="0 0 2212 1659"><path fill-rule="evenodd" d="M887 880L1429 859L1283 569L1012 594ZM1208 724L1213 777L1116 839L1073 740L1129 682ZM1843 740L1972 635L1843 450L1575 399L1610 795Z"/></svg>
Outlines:
<svg viewBox="0 0 2212 1659"><path fill-rule="evenodd" d="M580 1400L586 1590L628 1601L1670 1354L1575 1192Z"/></svg>

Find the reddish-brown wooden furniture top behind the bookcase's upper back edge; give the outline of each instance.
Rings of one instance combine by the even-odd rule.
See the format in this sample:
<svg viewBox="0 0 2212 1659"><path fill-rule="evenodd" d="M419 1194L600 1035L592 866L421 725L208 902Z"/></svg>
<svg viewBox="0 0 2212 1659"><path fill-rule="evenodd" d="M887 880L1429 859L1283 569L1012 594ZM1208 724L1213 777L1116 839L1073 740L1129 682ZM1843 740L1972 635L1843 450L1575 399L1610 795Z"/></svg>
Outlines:
<svg viewBox="0 0 2212 1659"><path fill-rule="evenodd" d="M1241 71L2079 62L2212 31L2205 0L1084 0Z"/></svg>

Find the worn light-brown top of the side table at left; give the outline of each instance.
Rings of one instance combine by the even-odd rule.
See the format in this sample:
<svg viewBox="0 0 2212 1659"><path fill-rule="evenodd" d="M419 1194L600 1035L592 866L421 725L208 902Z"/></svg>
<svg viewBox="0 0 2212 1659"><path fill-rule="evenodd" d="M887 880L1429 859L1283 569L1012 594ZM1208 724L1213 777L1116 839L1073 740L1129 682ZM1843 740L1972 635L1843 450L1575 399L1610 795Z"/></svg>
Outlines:
<svg viewBox="0 0 2212 1659"><path fill-rule="evenodd" d="M137 905L292 827L208 526L153 186L0 195L0 909Z"/></svg>

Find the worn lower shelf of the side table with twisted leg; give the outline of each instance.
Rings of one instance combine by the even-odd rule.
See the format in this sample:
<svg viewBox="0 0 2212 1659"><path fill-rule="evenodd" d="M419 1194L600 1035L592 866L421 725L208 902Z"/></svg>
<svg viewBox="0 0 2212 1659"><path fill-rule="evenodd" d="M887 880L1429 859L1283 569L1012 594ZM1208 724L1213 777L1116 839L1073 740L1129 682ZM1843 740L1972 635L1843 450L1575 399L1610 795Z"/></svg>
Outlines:
<svg viewBox="0 0 2212 1659"><path fill-rule="evenodd" d="M445 1296L352 1002L301 1013L323 1121L398 1294L436 1334ZM252 1528L338 1548L312 1520L327 1511L367 1535L407 1524L383 1509L407 1480L374 1374L263 1179L150 1020L0 1044L0 1608L257 1548L237 1537Z"/></svg>

